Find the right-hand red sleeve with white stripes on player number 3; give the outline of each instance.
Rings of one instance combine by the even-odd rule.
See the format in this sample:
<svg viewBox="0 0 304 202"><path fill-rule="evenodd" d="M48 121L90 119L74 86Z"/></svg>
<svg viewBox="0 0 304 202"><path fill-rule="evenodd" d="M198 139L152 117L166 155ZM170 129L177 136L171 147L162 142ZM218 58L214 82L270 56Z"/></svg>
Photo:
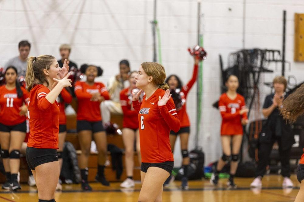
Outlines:
<svg viewBox="0 0 304 202"><path fill-rule="evenodd" d="M181 121L177 116L173 99L169 99L166 105L158 106L158 109L171 130L178 132L181 127Z"/></svg>

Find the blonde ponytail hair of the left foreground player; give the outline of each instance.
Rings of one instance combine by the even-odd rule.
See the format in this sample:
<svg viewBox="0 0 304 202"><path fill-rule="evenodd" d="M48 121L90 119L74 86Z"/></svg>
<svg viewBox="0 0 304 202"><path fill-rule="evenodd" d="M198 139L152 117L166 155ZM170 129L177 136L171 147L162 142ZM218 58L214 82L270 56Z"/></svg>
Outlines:
<svg viewBox="0 0 304 202"><path fill-rule="evenodd" d="M38 57L30 56L27 59L27 70L25 75L25 82L27 85L27 91L30 92L34 84L43 84L49 82L47 81L46 75L43 73L43 69L50 69L54 56L41 55Z"/></svg>

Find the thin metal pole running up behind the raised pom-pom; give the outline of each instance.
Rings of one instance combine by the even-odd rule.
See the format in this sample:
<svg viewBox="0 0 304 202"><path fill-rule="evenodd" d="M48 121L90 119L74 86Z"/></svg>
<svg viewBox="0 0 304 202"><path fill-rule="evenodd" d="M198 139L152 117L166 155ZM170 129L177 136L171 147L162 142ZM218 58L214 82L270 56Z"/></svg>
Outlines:
<svg viewBox="0 0 304 202"><path fill-rule="evenodd" d="M199 45L199 40L200 40L200 13L201 13L201 2L198 0L198 5L197 5L197 45ZM197 86L196 86L196 131L195 131L195 148L198 147L199 143L199 99L200 99L200 93L199 93L199 71L198 69L198 74L197 74Z"/></svg>

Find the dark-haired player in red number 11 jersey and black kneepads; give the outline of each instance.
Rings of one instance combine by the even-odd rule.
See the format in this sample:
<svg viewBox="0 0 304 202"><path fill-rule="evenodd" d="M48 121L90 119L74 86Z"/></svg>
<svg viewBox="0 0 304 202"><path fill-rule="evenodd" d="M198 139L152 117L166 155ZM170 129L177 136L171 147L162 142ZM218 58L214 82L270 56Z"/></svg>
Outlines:
<svg viewBox="0 0 304 202"><path fill-rule="evenodd" d="M0 143L6 182L2 189L21 189L17 176L20 150L26 135L27 102L29 93L17 81L17 69L5 70L6 84L0 87Z"/></svg>

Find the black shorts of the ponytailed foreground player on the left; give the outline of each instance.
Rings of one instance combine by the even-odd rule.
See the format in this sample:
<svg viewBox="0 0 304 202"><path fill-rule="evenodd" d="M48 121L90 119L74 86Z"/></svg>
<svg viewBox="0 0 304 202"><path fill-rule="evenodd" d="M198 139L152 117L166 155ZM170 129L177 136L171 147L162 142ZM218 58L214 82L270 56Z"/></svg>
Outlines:
<svg viewBox="0 0 304 202"><path fill-rule="evenodd" d="M58 160L57 150L55 149L39 149L34 147L26 147L26 162L29 168L35 168L43 163L50 163Z"/></svg>

